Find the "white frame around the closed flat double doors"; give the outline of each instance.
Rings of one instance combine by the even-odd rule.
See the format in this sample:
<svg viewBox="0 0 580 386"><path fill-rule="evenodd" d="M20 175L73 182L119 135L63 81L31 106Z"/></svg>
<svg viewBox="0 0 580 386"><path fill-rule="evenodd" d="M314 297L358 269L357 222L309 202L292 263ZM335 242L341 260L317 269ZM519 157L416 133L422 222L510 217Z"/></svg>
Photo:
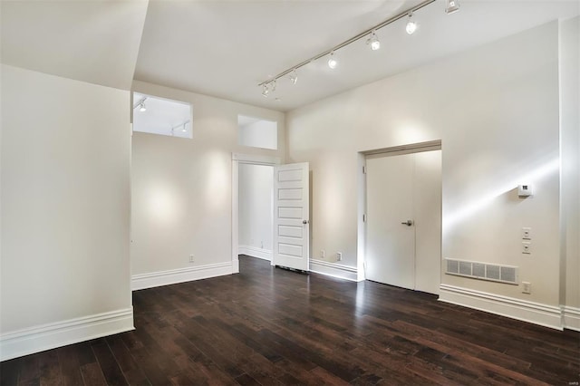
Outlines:
<svg viewBox="0 0 580 386"><path fill-rule="evenodd" d="M356 253L359 258L357 259L357 281L363 281L366 277L366 215L367 215L367 203L366 203L366 158L368 156L396 156L402 154L412 154L420 153L423 151L430 150L441 150L441 140L429 140L425 142L410 143L408 145L393 146L390 148L374 149L374 150L364 150L359 151L358 158L358 181L357 181L357 207L358 207L358 218L357 218L357 240L356 240ZM441 165L442 169L442 165ZM442 214L441 214L442 216ZM441 217L442 218L442 217ZM440 238L440 243L442 244L442 239ZM441 256L440 256L441 258Z"/></svg>

